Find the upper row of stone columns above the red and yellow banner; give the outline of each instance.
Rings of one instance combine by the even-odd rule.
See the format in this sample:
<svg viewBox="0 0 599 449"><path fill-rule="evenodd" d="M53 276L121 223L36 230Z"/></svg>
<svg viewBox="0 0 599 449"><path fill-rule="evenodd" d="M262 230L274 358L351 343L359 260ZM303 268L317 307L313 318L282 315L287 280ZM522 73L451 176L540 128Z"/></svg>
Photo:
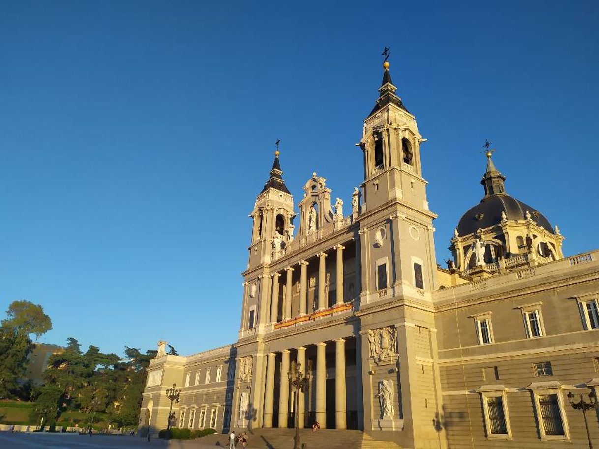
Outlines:
<svg viewBox="0 0 599 449"><path fill-rule="evenodd" d="M335 297L335 305L343 304L343 250L345 247L343 245L335 245L333 249L337 253L337 264L336 264L336 273L335 277L336 281L336 290L337 296ZM326 256L327 254L324 252L317 253L318 257L318 306L317 310L323 310L328 308L328 298L326 296L325 285L326 285ZM307 292L308 292L308 261L300 260L298 262L299 265L299 315L305 315L308 311L307 305ZM283 297L283 307L282 307L282 320L289 320L292 317L292 298L293 298L293 272L295 271L294 266L288 266L285 268L286 278L285 278L285 295ZM276 272L272 277L272 289L270 290L270 323L277 323L278 321L278 312L279 312L279 295L280 295L280 281L279 278L282 276L282 273Z"/></svg>

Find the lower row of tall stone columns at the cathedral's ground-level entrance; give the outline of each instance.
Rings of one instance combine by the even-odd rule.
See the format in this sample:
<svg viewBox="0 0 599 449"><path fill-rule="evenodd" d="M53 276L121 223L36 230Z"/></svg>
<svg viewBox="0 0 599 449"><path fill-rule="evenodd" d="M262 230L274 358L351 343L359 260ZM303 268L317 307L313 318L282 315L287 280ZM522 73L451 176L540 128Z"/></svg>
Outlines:
<svg viewBox="0 0 599 449"><path fill-rule="evenodd" d="M337 339L335 343L335 429L346 429L346 359L345 359L345 340ZM308 366L305 360L304 346L295 348L297 351L296 362L301 363L302 374L305 376ZM285 349L280 351L281 363L279 369L279 427L287 427L289 419L289 377L288 373L291 368L290 354L291 350ZM311 383L316 389L314 402L316 412L316 421L321 427L326 426L326 342L316 343L316 375ZM273 427L273 411L274 411L274 384L276 374L276 353L267 354L267 370L265 380L265 398L264 398L264 427ZM304 427L305 421L305 394L311 393L310 389L305 389L304 392L293 389L298 395L297 410L299 427ZM332 412L332 411L329 411Z"/></svg>

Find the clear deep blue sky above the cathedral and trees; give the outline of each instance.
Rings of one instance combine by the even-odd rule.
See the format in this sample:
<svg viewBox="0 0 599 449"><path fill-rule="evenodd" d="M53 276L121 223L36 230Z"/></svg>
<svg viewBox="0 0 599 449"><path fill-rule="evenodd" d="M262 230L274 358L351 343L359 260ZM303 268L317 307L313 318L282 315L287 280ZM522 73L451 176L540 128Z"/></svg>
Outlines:
<svg viewBox="0 0 599 449"><path fill-rule="evenodd" d="M383 45L439 261L485 138L566 253L599 247L598 2L352 3L1 1L0 310L117 353L233 342L274 141L296 203L313 171L349 201Z"/></svg>

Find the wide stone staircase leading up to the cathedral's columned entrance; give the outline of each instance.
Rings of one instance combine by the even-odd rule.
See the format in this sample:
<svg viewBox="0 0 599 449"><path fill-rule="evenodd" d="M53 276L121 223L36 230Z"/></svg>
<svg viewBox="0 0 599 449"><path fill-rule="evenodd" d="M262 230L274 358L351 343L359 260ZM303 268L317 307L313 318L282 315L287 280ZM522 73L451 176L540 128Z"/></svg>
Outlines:
<svg viewBox="0 0 599 449"><path fill-rule="evenodd" d="M253 429L247 431L247 449L293 449L294 429ZM305 449L401 449L394 441L377 441L362 430L300 429L299 438ZM204 436L202 445L228 448L228 435ZM241 445L237 446L241 448Z"/></svg>

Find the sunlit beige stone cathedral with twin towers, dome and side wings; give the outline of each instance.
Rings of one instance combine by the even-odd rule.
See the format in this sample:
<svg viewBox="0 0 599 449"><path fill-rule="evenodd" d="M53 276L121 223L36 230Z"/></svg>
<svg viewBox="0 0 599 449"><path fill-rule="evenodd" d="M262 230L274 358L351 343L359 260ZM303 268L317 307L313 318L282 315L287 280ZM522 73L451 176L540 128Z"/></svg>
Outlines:
<svg viewBox="0 0 599 449"><path fill-rule="evenodd" d="M313 173L297 210L276 151L251 213L238 339L190 356L159 342L141 432L170 420L277 449L295 426L312 448L599 441L597 412L574 407L599 386L599 250L564 256L558 227L510 195L488 148L480 202L438 265L426 139L388 62L378 91L350 205Z"/></svg>

